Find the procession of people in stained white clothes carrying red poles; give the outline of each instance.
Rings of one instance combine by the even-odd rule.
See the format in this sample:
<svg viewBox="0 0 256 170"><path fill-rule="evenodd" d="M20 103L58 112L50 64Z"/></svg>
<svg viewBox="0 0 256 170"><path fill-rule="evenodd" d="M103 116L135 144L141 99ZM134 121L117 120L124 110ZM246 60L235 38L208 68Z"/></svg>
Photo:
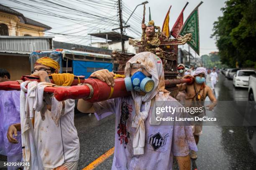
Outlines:
<svg viewBox="0 0 256 170"><path fill-rule="evenodd" d="M128 60L125 77L138 79L138 84L133 84L130 97L95 103L83 99L78 101L78 110L94 112L97 120L115 114L112 170L169 170L172 169L174 158L180 170L190 170L190 158L197 158L202 122L191 126L165 126L155 120L154 107L159 101L164 101L168 107L190 107L192 104L195 107L195 103L199 107L208 96L212 104L207 107L212 110L217 105L212 92L218 81L216 68L210 73L211 89L205 83L209 75L205 68L192 67L186 71L185 66L179 64L178 77L190 77L194 81L192 84L177 85L180 92L175 99L165 89L163 64L159 61L159 57L151 52L138 53ZM40 82L22 82L20 92L0 90L0 154L7 155L8 161L30 161L31 170L77 169L79 136L74 125L74 100L59 102L53 96L44 94L44 88L53 85L49 75L59 80L58 85L71 85L74 75L59 74L59 69L58 62L42 57L36 61L31 72L31 75L40 78ZM108 70L98 70L91 75L112 87L115 87L114 76ZM141 77L154 82L149 91L141 89ZM9 80L8 71L0 69L0 81ZM168 116L170 113L163 114ZM182 114L175 113L177 117L182 117Z"/></svg>

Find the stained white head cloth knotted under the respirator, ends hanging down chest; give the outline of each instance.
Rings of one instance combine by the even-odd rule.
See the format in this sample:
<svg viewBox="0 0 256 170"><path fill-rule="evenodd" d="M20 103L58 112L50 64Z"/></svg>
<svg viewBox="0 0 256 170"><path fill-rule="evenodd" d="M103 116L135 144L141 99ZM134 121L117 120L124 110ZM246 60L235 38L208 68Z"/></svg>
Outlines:
<svg viewBox="0 0 256 170"><path fill-rule="evenodd" d="M145 67L146 71L151 74L151 79L154 80L155 85L151 92L146 95L138 95L136 91L131 91L136 114L133 117L132 127L136 128L136 133L133 138L133 154L144 154L145 145L145 124L144 121L148 117L148 112L151 106L151 99L156 96L155 101L166 101L170 92L165 90L164 86L164 69L161 59L151 52L141 52L133 56L125 66L125 77L130 77L131 64L140 63ZM141 102L145 102L145 110L141 112ZM151 115L152 116L152 115Z"/></svg>

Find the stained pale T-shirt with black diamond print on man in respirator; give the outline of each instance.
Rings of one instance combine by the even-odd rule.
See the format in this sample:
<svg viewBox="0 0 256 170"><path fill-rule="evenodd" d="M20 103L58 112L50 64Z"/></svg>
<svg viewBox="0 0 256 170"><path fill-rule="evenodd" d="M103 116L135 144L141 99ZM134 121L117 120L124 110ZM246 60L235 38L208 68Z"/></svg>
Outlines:
<svg viewBox="0 0 256 170"><path fill-rule="evenodd" d="M170 105L173 107L180 105L170 96L168 101L172 101L168 103L172 103ZM112 170L172 170L174 156L186 156L189 150L197 151L190 126L150 125L151 107L145 120L144 154L134 155L133 138L136 128L131 127L131 123L136 111L133 98L120 97L97 102L93 106L97 120L113 113L116 117ZM141 111L143 110L144 105L141 106Z"/></svg>

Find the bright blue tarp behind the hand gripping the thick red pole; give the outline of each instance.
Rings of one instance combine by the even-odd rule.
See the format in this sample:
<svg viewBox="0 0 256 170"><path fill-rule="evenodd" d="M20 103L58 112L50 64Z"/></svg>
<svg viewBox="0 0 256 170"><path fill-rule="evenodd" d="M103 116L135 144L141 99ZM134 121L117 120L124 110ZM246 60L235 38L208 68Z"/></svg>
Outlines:
<svg viewBox="0 0 256 170"><path fill-rule="evenodd" d="M88 78L92 74L92 72L95 72L101 69L108 69L109 71L112 71L113 64L109 62L73 60L74 75L84 75L85 78Z"/></svg>

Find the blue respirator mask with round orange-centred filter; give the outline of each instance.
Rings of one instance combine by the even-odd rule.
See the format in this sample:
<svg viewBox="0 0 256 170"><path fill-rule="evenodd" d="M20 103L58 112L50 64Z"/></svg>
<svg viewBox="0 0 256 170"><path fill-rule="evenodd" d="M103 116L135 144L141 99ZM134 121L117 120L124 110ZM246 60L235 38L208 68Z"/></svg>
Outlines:
<svg viewBox="0 0 256 170"><path fill-rule="evenodd" d="M127 91L151 92L154 85L154 81L141 71L135 72L132 77L125 77L125 87Z"/></svg>

